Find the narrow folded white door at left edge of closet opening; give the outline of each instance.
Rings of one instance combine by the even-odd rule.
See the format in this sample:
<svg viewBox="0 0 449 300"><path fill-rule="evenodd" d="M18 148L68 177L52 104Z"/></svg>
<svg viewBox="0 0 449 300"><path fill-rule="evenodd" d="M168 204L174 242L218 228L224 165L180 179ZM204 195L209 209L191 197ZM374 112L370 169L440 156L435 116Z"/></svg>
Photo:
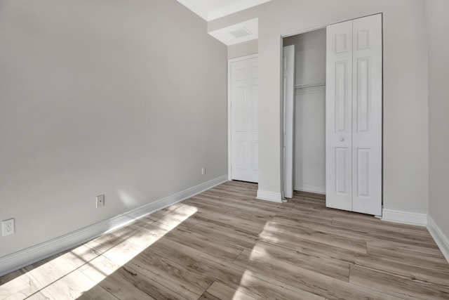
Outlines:
<svg viewBox="0 0 449 300"><path fill-rule="evenodd" d="M283 47L283 195L293 197L295 45Z"/></svg>

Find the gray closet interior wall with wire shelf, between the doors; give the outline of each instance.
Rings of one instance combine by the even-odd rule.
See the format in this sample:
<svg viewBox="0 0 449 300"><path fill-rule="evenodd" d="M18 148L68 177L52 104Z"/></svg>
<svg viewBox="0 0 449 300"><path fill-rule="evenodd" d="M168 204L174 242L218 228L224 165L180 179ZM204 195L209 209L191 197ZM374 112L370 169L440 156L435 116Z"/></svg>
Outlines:
<svg viewBox="0 0 449 300"><path fill-rule="evenodd" d="M326 193L326 28L283 39L295 45L293 189Z"/></svg>

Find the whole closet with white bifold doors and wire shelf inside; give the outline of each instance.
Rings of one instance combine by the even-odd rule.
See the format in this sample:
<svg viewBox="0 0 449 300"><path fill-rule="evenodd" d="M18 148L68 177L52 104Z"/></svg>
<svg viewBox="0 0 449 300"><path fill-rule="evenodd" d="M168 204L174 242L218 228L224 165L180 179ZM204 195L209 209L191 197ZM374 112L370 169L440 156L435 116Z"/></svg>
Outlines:
<svg viewBox="0 0 449 300"><path fill-rule="evenodd" d="M295 47L295 93L291 126L284 105L284 140L293 130L293 189L326 193L327 207L380 215L382 15L284 38L289 45ZM284 55L288 103L286 65ZM284 142L284 153L288 147Z"/></svg>

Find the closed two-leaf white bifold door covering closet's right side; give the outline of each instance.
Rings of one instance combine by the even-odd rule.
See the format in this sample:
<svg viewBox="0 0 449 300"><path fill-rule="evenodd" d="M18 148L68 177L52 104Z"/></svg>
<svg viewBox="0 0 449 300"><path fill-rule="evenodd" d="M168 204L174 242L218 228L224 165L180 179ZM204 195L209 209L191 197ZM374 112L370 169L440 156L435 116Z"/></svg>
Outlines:
<svg viewBox="0 0 449 300"><path fill-rule="evenodd" d="M326 206L380 215L382 15L326 30Z"/></svg>

